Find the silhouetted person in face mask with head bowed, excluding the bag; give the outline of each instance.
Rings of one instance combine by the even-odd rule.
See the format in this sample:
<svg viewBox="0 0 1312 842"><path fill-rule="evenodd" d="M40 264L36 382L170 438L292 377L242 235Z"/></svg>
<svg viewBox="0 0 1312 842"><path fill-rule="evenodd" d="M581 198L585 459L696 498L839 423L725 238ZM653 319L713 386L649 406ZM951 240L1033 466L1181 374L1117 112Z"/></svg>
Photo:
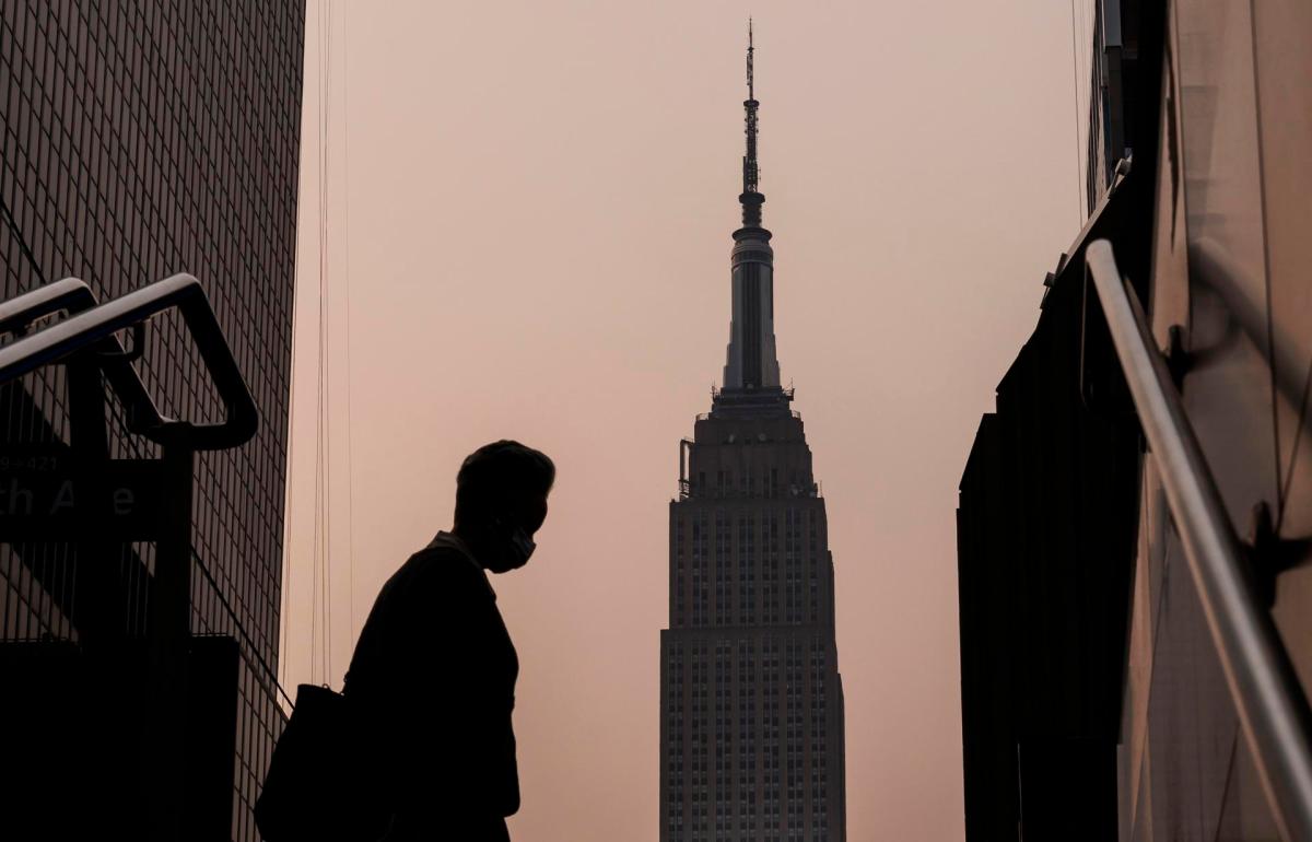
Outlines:
<svg viewBox="0 0 1312 842"><path fill-rule="evenodd" d="M555 466L531 447L476 450L455 480L451 531L411 556L374 602L345 694L395 811L388 842L509 839L520 662L485 571L527 563L554 481Z"/></svg>

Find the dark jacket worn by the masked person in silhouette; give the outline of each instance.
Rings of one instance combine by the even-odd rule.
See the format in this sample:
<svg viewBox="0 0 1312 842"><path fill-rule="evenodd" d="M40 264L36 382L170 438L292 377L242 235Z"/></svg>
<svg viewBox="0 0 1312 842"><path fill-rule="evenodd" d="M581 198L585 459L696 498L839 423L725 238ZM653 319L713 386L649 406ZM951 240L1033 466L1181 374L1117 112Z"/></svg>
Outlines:
<svg viewBox="0 0 1312 842"><path fill-rule="evenodd" d="M500 820L520 808L518 672L487 574L438 532L383 585L344 689L400 817Z"/></svg>

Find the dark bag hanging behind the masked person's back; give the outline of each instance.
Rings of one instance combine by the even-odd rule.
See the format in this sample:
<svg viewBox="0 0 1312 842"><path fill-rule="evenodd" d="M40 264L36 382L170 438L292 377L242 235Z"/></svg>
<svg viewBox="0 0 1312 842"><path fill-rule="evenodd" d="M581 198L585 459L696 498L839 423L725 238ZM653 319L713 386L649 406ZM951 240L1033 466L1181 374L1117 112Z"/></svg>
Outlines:
<svg viewBox="0 0 1312 842"><path fill-rule="evenodd" d="M377 782L350 702L331 687L300 685L255 804L265 842L377 842L392 814Z"/></svg>

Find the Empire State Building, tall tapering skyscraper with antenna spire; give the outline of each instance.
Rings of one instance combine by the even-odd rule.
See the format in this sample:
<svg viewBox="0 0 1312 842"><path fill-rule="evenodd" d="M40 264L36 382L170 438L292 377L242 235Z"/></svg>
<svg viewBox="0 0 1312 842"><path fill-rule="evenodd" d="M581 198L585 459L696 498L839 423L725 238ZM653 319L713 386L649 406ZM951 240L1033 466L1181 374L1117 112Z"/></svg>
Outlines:
<svg viewBox="0 0 1312 842"><path fill-rule="evenodd" d="M680 446L661 631L661 842L845 832L844 706L824 498L774 344L748 39L743 227L723 387Z"/></svg>

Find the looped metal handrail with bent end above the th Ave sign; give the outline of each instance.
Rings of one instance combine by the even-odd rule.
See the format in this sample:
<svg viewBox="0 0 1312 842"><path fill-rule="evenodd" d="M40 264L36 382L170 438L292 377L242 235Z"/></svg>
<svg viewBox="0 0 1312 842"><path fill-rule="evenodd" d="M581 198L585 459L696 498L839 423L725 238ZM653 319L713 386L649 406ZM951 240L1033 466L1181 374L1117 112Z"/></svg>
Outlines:
<svg viewBox="0 0 1312 842"><path fill-rule="evenodd" d="M79 285L85 292L79 290ZM87 296L94 304L94 295L85 283L72 278L59 281L0 304L0 328L13 332L34 319L60 310L72 312L87 303ZM163 417L130 361L122 357L122 345L114 336L117 332L140 325L151 316L174 307L195 340L201 359L223 401L226 418L219 424L192 424ZM109 357L105 374L129 405L134 431L161 445L223 450L244 445L258 429L258 409L223 336L223 328L214 316L201 282L188 274L176 274L112 302L81 310L38 333L0 348L0 383L101 344L106 345Z"/></svg>

